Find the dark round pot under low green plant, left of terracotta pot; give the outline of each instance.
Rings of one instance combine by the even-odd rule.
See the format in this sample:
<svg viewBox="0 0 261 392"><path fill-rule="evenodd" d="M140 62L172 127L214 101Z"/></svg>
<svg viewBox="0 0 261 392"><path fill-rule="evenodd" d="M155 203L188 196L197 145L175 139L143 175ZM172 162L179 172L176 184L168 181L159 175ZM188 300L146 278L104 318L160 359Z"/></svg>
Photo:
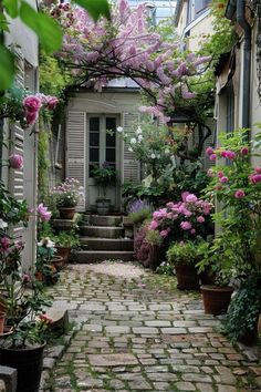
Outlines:
<svg viewBox="0 0 261 392"><path fill-rule="evenodd" d="M199 276L197 269L190 264L177 264L175 265L179 290L198 290L199 289Z"/></svg>

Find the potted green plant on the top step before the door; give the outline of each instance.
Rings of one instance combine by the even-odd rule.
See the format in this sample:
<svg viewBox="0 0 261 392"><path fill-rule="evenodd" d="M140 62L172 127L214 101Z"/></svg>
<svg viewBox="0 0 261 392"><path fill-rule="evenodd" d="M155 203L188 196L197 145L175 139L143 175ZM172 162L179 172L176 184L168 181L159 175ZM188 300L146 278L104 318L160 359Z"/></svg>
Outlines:
<svg viewBox="0 0 261 392"><path fill-rule="evenodd" d="M116 183L115 169L109 163L104 162L102 166L95 166L93 168L92 175L95 184L98 186L98 198L96 199L97 214L108 214L111 199L107 198L107 188Z"/></svg>

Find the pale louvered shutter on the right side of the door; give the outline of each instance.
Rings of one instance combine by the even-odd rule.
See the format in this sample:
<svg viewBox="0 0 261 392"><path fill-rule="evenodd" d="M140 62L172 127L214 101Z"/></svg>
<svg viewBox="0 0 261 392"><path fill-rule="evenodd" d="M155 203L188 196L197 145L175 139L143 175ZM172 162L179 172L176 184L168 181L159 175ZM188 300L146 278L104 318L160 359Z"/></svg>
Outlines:
<svg viewBox="0 0 261 392"><path fill-rule="evenodd" d="M135 136L135 124L139 122L139 113L123 113L123 128L129 138ZM124 142L122 180L138 183L140 180L140 165L134 153L128 151L129 143Z"/></svg>

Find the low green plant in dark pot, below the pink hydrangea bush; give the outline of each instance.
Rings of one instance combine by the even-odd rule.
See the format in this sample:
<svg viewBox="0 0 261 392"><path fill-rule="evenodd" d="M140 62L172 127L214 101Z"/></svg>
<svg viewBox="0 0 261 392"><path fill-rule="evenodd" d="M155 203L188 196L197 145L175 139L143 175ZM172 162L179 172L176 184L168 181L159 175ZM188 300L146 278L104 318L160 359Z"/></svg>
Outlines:
<svg viewBox="0 0 261 392"><path fill-rule="evenodd" d="M175 241L167 251L168 262L174 266L180 290L198 290L199 276L197 245L192 241Z"/></svg>

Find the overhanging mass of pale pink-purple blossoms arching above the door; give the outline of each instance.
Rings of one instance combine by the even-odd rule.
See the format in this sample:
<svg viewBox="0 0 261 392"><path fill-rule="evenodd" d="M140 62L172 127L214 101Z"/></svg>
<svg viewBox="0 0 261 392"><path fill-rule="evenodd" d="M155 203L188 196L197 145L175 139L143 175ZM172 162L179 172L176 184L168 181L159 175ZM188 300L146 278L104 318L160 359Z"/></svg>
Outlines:
<svg viewBox="0 0 261 392"><path fill-rule="evenodd" d="M167 121L164 111L196 96L188 78L211 59L182 54L181 42L167 42L149 23L148 12L146 3L130 8L127 0L119 0L111 21L95 23L74 4L54 4L50 10L64 30L58 55L74 75L97 91L112 79L130 78L154 97L154 105L142 111Z"/></svg>

